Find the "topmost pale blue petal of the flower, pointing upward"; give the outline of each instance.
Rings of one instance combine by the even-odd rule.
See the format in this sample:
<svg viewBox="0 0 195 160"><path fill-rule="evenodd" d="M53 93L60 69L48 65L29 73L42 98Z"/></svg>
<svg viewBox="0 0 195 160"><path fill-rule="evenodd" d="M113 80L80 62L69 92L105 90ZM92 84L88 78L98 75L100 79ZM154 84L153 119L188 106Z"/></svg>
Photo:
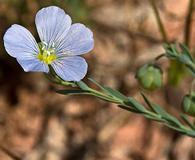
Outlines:
<svg viewBox="0 0 195 160"><path fill-rule="evenodd" d="M56 42L64 39L72 21L64 10L50 6L38 11L35 23L41 41L46 42L49 48L54 43L56 44Z"/></svg>

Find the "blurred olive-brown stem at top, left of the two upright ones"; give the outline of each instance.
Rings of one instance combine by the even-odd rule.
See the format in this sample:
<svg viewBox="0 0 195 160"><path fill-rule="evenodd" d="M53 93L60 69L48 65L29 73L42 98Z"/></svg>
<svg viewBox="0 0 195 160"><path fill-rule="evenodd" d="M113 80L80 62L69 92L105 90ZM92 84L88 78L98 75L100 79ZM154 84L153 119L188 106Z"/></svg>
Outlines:
<svg viewBox="0 0 195 160"><path fill-rule="evenodd" d="M161 17L160 17L160 14L159 14L159 11L158 11L158 8L156 6L156 3L155 3L155 0L149 0L150 4L151 4L151 7L152 9L154 10L154 15L156 17L156 20L157 20L157 23L158 23L158 27L159 27L159 30L162 34L162 38L163 38L163 41L165 43L168 43L168 38L167 38L167 34L166 34L166 31L165 31L165 27L162 23L162 20L161 20Z"/></svg>

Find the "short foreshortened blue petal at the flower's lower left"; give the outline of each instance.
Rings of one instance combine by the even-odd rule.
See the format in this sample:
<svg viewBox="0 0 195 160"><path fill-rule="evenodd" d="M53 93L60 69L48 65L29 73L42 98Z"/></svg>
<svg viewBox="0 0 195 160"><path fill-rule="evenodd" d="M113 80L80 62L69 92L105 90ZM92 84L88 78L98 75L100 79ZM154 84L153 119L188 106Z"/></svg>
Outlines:
<svg viewBox="0 0 195 160"><path fill-rule="evenodd" d="M17 61L25 72L49 72L49 67L36 58L28 60L17 59Z"/></svg>

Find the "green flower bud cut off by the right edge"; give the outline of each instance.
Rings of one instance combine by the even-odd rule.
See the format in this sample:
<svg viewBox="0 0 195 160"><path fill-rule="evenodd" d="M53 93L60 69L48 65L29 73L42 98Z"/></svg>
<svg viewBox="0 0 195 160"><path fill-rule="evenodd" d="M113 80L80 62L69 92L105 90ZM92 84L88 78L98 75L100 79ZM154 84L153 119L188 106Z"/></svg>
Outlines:
<svg viewBox="0 0 195 160"><path fill-rule="evenodd" d="M195 92L183 97L182 109L186 114L195 117Z"/></svg>

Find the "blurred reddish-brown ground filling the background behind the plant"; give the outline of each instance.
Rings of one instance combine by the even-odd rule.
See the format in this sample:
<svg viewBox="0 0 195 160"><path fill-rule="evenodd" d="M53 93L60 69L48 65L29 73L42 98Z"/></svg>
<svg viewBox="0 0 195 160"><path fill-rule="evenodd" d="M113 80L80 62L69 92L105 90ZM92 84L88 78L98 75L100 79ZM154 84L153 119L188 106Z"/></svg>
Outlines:
<svg viewBox="0 0 195 160"><path fill-rule="evenodd" d="M181 41L188 0L156 2L169 40ZM87 77L140 101L135 71L163 52L147 0L0 0L0 160L195 159L192 138L94 97L59 95L55 93L59 87L43 74L25 73L6 54L2 41L6 29L21 24L38 38L34 17L50 5L93 30L95 48L85 55ZM167 61L160 64L166 71ZM188 81L148 94L176 113Z"/></svg>

